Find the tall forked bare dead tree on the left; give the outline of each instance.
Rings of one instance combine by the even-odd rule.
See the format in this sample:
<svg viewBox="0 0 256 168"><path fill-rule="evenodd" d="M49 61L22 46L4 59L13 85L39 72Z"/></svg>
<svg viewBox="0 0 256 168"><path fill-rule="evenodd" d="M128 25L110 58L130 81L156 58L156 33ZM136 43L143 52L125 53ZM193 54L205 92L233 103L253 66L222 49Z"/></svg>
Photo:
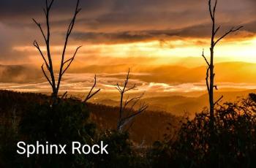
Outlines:
<svg viewBox="0 0 256 168"><path fill-rule="evenodd" d="M36 25L38 26L42 37L45 41L45 45L46 45L46 50L47 50L47 54L45 56L44 53L42 53L42 50L37 42L37 40L34 40L34 47L37 48L37 50L39 51L40 55L42 56L42 59L44 61L44 64L42 64L41 69L43 74L45 75L45 78L48 80L48 83L50 84L51 88L52 88L52 96L53 98L57 98L58 97L58 93L59 93L59 87L61 85L61 79L62 76L64 75L64 73L67 71L67 69L69 69L69 66L72 64L72 61L74 61L76 54L78 53L78 50L80 49L80 47L77 47L75 50L75 53L73 54L73 56L69 59L65 60L65 55L66 55L66 49L67 49L67 44L69 41L69 36L72 33L72 29L74 28L75 25L75 20L77 18L78 13L80 12L80 8L78 8L79 6L79 0L77 1L76 7L75 7L75 13L73 15L73 18L71 20L71 22L69 23L69 27L67 28L67 34L66 34L66 38L65 38L65 42L64 42L64 48L62 50L62 54L61 54L61 63L60 63L60 69L59 69L59 77L56 78L54 76L54 69L53 69L53 61L52 61L52 55L50 52L50 9L53 6L53 2L54 0L45 0L45 6L46 8L43 9L44 13L45 13L45 20L46 20L46 34L45 31L43 30L42 26L40 23L37 22L37 20L34 20L34 23L36 23ZM46 69L48 71L48 73L45 71L45 66ZM48 77L48 74L50 74L50 77ZM65 94L64 94L65 95Z"/></svg>

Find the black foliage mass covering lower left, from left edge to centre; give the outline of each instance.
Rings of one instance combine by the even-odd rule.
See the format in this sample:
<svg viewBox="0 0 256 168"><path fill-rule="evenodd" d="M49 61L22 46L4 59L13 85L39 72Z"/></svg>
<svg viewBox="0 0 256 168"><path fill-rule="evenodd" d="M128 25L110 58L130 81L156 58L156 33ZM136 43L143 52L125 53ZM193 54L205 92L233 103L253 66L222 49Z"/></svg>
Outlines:
<svg viewBox="0 0 256 168"><path fill-rule="evenodd" d="M8 109L3 104L8 111L1 116L0 167L143 167L143 158L134 152L129 134L116 131L99 133L89 118L88 105L80 100L63 99L52 105L48 96L41 99L41 95L9 91L4 91L1 96L3 99L10 97L17 106ZM30 96L33 99L29 99ZM18 141L34 145L37 141L41 144L67 144L67 147L74 141L89 145L104 141L109 145L109 154L41 154L31 155L28 159L16 153Z"/></svg>

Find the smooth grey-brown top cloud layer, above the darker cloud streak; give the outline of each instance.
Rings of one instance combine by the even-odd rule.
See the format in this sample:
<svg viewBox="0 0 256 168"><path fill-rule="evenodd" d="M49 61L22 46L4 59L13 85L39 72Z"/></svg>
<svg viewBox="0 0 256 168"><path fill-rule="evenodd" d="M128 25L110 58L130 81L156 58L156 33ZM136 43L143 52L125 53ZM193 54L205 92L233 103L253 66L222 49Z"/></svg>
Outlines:
<svg viewBox="0 0 256 168"><path fill-rule="evenodd" d="M45 5L44 0L0 3L0 20L10 24L31 23L32 17L41 18ZM254 0L219 1L218 20L244 23L255 18L254 4ZM55 0L53 22L64 24L74 7L75 1ZM87 31L176 29L205 23L209 19L207 0L81 0L80 7L83 10L77 24Z"/></svg>

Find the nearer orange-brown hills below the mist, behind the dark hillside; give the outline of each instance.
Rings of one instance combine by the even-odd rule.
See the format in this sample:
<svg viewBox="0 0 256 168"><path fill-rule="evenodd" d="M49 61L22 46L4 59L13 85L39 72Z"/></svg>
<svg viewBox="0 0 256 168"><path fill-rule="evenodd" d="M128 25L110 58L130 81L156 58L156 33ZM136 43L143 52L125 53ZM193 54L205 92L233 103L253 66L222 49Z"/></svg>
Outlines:
<svg viewBox="0 0 256 168"><path fill-rule="evenodd" d="M215 99L224 96L222 102L236 102L238 99L246 98L249 93L256 93L256 90L245 91L217 91L215 92ZM202 96L152 96L142 100L148 104L149 110L170 112L173 115L184 115L189 112L194 115L195 112L201 112L203 107L208 106L208 94ZM110 106L118 106L118 101L113 99L97 99L93 102L105 104Z"/></svg>

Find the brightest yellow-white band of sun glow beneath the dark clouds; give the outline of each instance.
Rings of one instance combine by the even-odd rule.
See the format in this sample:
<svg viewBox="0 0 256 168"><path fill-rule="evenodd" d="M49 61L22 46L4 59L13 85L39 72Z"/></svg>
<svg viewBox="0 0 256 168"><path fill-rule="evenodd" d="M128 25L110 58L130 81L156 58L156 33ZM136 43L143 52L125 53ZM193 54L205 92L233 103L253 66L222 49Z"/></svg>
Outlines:
<svg viewBox="0 0 256 168"><path fill-rule="evenodd" d="M130 42L124 44L83 44L78 53L78 59L88 56L109 57L109 58L129 58L129 57L145 57L170 59L183 57L200 57L201 51L208 49L208 39L172 39L167 41L149 41L149 42ZM67 54L72 55L76 45L70 45ZM247 61L256 62L256 37L251 39L224 40L219 43L215 49L216 58L225 58L223 61ZM33 46L17 46L13 50L29 53L31 60L38 61L37 50ZM59 58L62 47L54 45L51 51L55 58ZM45 47L42 46L42 51ZM209 51L206 50L206 56ZM160 64L161 61L159 61Z"/></svg>

